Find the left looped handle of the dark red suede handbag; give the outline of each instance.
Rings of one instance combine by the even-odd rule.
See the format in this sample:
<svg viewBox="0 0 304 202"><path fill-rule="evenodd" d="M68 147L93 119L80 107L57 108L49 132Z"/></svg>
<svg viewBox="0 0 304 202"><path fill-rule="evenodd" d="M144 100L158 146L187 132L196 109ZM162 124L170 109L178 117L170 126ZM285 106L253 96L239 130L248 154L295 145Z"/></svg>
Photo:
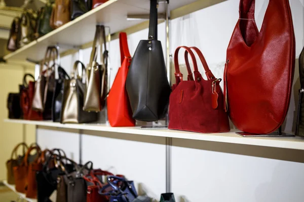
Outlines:
<svg viewBox="0 0 304 202"><path fill-rule="evenodd" d="M193 52L191 51L191 49L187 46L179 46L176 48L175 53L174 53L174 67L175 67L175 80L176 80L176 84L178 84L180 81L182 81L182 73L179 70L179 64L178 64L178 52L180 50L180 48L184 48L186 53L189 53L193 62L193 66L194 66L194 71L195 72L199 72L198 69L198 64L195 58L195 55L193 54ZM187 67L187 71L188 71L188 81L193 81L193 75L192 75L192 71L189 65L186 65Z"/></svg>

